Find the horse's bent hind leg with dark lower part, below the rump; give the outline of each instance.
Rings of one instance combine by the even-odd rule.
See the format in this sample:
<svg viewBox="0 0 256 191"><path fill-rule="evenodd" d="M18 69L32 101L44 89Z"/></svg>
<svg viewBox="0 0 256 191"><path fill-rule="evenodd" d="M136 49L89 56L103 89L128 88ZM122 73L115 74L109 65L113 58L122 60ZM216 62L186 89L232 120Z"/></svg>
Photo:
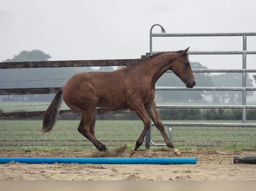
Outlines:
<svg viewBox="0 0 256 191"><path fill-rule="evenodd" d="M95 108L96 109L96 108ZM98 141L95 137L94 125L96 120L96 111L94 112L82 112L81 121L78 127L78 131L88 138L99 151L107 151L107 147ZM92 114L93 113L93 114ZM92 126L93 127L92 127Z"/></svg>

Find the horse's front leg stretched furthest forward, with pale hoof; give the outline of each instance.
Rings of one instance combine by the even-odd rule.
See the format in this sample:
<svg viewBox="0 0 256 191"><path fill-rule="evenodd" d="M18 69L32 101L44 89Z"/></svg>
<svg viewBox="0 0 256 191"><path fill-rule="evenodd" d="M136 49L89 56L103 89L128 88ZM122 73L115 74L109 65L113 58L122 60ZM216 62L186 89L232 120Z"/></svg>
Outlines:
<svg viewBox="0 0 256 191"><path fill-rule="evenodd" d="M159 117L159 115L157 113L155 101L152 101L151 103L145 104L145 109L148 112L148 114L151 117L151 119L153 120L156 128L161 132L167 147L172 149L175 154L180 155L181 153L172 144L171 140L169 139L169 137L167 136L167 134L166 134L166 132L164 130L163 123L162 123L162 121L161 121L161 119L160 119L160 117Z"/></svg>

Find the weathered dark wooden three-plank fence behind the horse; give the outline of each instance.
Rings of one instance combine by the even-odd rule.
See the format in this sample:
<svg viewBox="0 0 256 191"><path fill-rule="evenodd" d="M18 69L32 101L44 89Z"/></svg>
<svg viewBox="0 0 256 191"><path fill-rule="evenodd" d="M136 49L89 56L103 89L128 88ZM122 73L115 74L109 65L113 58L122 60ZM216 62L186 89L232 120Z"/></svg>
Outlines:
<svg viewBox="0 0 256 191"><path fill-rule="evenodd" d="M141 56L145 58L145 56ZM92 66L130 66L141 59L118 60L75 60L75 61L39 61L39 62L3 62L0 69L21 68L59 68L59 67L92 67ZM0 95L30 95L30 94L56 94L60 87L54 88L12 88L0 89ZM131 113L132 109L103 109L98 108L98 114ZM8 112L0 113L0 119L41 118L44 111ZM73 110L60 110L59 116L76 116L79 112Z"/></svg>

